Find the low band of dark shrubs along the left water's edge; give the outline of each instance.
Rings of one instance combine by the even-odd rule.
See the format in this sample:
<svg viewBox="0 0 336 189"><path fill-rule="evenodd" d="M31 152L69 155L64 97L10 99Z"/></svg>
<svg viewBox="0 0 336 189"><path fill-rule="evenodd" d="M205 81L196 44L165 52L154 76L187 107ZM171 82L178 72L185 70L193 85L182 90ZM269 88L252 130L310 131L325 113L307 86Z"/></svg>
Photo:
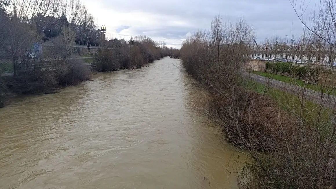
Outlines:
<svg viewBox="0 0 336 189"><path fill-rule="evenodd" d="M62 52L55 48L56 52L50 49L51 52L46 52L44 59L26 58L20 63L11 64L10 70L13 74L0 75L0 107L6 105L6 99L13 94L52 93L56 89L87 81L94 72L139 69L168 54L166 46L157 46L157 43L147 36L136 36L135 39L137 40L133 41L133 45L124 45L118 40L108 41L92 58L64 58L70 56L72 50L59 57L57 53ZM47 61L50 57L55 61ZM9 70L7 64L6 70Z"/></svg>

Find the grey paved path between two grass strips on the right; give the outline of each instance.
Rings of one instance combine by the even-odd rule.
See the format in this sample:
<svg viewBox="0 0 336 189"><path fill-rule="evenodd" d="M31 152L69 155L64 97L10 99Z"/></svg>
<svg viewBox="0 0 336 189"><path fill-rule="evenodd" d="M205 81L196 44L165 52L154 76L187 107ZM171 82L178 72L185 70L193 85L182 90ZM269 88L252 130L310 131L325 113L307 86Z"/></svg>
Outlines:
<svg viewBox="0 0 336 189"><path fill-rule="evenodd" d="M269 77L256 75L253 73L245 72L245 75L258 83L282 90L284 92L300 96L303 95L307 100L312 101L316 104L323 104L325 107L329 107L332 109L336 107L336 96L328 95L311 89L303 88L297 85L274 80Z"/></svg>

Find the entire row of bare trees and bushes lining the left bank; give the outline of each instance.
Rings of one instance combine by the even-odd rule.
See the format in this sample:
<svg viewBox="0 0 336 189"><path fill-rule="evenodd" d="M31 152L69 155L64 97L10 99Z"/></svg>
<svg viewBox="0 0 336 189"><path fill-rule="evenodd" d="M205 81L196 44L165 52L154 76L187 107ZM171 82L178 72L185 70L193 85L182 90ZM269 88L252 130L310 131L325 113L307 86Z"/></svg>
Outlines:
<svg viewBox="0 0 336 189"><path fill-rule="evenodd" d="M75 56L73 45L95 43L96 31L79 0L0 1L0 107L8 95L49 93L87 80L93 70ZM42 54L44 40L51 46ZM164 42L145 36L133 45L97 40L104 46L95 57L98 71L140 68L169 53Z"/></svg>

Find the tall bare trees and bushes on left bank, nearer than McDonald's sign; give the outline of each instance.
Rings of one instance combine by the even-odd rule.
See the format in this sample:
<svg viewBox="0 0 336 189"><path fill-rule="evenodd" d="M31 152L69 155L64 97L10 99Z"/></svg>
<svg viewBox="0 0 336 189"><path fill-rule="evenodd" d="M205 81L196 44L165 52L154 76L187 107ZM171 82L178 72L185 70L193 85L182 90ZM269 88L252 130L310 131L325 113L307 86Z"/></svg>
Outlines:
<svg viewBox="0 0 336 189"><path fill-rule="evenodd" d="M76 4L77 3L77 4ZM6 94L32 94L50 92L55 88L75 85L87 80L90 70L81 60L70 59L74 54L76 23L81 18L79 1L24 0L0 3L0 106ZM37 13L44 17L67 12L56 21L60 35L49 37L53 45L41 55L41 44L48 28ZM66 20L71 20L68 22ZM55 26L56 27L56 26Z"/></svg>

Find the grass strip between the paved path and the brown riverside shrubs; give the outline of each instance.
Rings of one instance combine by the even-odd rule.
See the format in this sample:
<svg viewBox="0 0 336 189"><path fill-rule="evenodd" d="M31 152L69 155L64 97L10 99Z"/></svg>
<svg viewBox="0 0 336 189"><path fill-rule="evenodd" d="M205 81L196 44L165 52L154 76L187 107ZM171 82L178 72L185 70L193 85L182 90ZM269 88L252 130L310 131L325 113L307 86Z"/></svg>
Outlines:
<svg viewBox="0 0 336 189"><path fill-rule="evenodd" d="M330 118L333 116L331 109L322 108L320 105L302 99L300 96L292 95L252 80L246 83L246 87L249 90L271 98L281 109L290 115L301 115L309 124L315 123L318 117L321 118L320 121L331 122Z"/></svg>

